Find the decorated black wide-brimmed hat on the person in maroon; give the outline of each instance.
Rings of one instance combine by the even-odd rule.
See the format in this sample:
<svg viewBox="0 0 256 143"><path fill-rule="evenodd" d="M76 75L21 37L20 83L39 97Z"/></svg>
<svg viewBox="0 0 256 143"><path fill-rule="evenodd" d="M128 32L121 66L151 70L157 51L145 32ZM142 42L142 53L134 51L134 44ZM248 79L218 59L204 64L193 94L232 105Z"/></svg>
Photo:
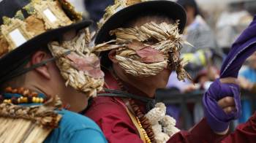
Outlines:
<svg viewBox="0 0 256 143"><path fill-rule="evenodd" d="M179 20L179 33L183 33L187 22L187 14L184 8L176 2L158 0L115 1L113 6L106 9L104 18L99 22L100 28L95 39L95 44L115 39L114 35L110 36L110 31L123 27L138 18L138 16L154 14L165 16L173 21ZM103 67L108 67L111 64L111 61L108 59L108 52L109 51L101 53L101 64Z"/></svg>

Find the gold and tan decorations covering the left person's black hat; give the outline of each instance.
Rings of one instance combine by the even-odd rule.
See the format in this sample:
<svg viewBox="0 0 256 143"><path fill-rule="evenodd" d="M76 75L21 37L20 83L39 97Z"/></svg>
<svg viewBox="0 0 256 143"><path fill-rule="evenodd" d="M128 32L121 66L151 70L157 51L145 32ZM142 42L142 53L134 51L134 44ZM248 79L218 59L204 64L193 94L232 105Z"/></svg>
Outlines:
<svg viewBox="0 0 256 143"><path fill-rule="evenodd" d="M65 0L31 0L23 10L29 17L25 18L21 10L14 18L3 17L0 26L0 57L45 31L82 20L81 14L75 12L74 7Z"/></svg>

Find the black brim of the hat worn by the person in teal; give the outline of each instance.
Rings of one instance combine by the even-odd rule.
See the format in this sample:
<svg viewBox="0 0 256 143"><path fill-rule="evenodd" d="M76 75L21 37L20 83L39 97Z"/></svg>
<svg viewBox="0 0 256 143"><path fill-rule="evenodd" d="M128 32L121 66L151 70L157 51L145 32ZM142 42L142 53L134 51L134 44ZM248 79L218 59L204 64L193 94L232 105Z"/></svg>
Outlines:
<svg viewBox="0 0 256 143"><path fill-rule="evenodd" d="M67 31L80 30L82 28L90 26L91 23L91 20L83 20L79 23L74 23L69 26L46 31L45 33L39 34L34 38L29 39L27 42L23 43L23 45L16 47L15 50L12 50L10 53L7 53L2 58L0 58L0 75L4 76L6 72L14 70L15 64L20 64L20 62L23 61L24 57L27 57L31 53L34 53L34 51L42 48L42 46L47 45L48 42L58 40Z"/></svg>

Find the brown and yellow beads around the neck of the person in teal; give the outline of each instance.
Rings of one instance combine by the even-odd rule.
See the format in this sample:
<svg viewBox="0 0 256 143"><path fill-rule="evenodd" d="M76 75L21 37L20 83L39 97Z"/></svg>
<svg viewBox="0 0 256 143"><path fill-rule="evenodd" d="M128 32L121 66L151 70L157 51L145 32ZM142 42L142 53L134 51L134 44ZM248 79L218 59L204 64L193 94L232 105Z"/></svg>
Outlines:
<svg viewBox="0 0 256 143"><path fill-rule="evenodd" d="M4 96L0 95L0 104L42 104L46 100L45 95L26 88L7 87L4 90Z"/></svg>

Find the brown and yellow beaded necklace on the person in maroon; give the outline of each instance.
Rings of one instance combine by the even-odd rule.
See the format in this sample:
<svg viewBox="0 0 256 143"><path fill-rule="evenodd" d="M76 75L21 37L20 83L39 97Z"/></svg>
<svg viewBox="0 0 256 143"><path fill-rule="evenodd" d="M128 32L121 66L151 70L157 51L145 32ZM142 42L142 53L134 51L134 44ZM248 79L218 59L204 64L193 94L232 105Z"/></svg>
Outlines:
<svg viewBox="0 0 256 143"><path fill-rule="evenodd" d="M114 71L112 73L121 90L127 92L126 88L124 88L124 85L122 84L121 80L117 77L116 73ZM138 106L138 104L136 104L135 100L132 98L129 99L129 104L132 107L133 112L135 113L138 124L140 125L140 129L143 132L144 138L146 139L146 143L157 142L156 139L154 139L154 131L152 129L152 125L149 122L148 118L143 114L143 112L141 112L141 109Z"/></svg>

